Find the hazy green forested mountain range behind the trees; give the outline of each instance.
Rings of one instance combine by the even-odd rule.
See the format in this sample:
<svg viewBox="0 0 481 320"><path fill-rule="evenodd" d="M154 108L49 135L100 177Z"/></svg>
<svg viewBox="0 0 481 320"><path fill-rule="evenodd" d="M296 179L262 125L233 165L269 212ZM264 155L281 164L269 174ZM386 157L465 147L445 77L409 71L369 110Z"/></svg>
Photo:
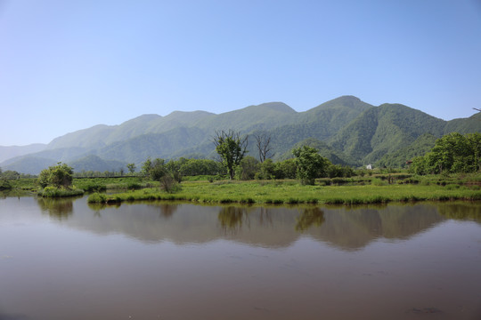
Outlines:
<svg viewBox="0 0 481 320"><path fill-rule="evenodd" d="M223 114L175 111L143 115L123 124L99 124L67 133L47 145L0 147L0 167L37 174L61 161L81 171L119 171L147 157L215 158L219 130L249 134L249 155L256 156L254 135L271 136L273 160L291 157L302 144L319 148L334 164L402 166L420 156L449 132L481 131L481 115L444 121L401 104L372 106L342 96L304 112L282 102L249 106Z"/></svg>

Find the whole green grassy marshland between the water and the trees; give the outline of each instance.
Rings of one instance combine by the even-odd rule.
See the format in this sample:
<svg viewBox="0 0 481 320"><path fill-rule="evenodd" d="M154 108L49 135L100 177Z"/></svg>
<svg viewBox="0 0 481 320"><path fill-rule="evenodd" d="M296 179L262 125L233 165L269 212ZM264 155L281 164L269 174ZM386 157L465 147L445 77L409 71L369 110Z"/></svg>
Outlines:
<svg viewBox="0 0 481 320"><path fill-rule="evenodd" d="M90 194L88 201L99 204L140 200L200 204L383 204L481 200L479 173L451 176L413 176L405 172L363 174L353 178L318 179L314 186L301 185L298 180L184 178L171 192L163 191L159 181L142 177L74 179L73 189ZM41 191L34 179L15 180L12 185L16 190ZM51 196L68 195L53 193Z"/></svg>

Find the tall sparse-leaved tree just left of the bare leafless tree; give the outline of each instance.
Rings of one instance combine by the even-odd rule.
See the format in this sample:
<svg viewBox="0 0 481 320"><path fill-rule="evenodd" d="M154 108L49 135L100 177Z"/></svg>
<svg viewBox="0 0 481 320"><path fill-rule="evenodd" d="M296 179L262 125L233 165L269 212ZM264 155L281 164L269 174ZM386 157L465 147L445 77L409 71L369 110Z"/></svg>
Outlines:
<svg viewBox="0 0 481 320"><path fill-rule="evenodd" d="M229 130L228 132L216 131L214 137L214 144L216 145L216 152L221 157L222 164L229 173L229 178L233 180L235 169L240 164L240 161L247 152L249 136L240 138L240 132Z"/></svg>

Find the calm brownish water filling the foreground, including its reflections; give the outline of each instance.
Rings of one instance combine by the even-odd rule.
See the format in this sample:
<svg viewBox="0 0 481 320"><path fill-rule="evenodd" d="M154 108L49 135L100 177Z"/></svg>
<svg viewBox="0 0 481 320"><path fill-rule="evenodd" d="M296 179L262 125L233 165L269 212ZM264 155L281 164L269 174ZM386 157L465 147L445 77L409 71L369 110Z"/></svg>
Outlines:
<svg viewBox="0 0 481 320"><path fill-rule="evenodd" d="M7 197L0 320L481 319L480 221L481 204Z"/></svg>

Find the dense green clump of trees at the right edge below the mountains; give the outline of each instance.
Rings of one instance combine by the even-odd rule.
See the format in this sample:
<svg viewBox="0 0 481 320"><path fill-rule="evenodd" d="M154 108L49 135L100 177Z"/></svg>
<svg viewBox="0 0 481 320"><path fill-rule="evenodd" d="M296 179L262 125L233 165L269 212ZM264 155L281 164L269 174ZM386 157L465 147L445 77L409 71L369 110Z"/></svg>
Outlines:
<svg viewBox="0 0 481 320"><path fill-rule="evenodd" d="M479 172L480 156L481 133L453 132L436 140L435 147L425 156L412 159L410 172L420 175Z"/></svg>

